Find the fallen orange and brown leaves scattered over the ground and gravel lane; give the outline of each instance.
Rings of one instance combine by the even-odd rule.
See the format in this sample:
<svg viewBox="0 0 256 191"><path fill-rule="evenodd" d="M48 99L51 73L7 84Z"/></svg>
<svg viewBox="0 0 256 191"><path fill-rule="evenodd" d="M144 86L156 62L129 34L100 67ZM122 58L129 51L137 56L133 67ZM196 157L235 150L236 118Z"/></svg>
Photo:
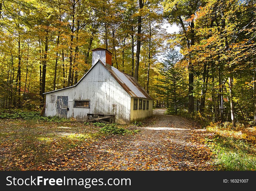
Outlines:
<svg viewBox="0 0 256 191"><path fill-rule="evenodd" d="M11 123L11 122L10 122ZM76 123L74 123L76 124ZM19 170L213 170L211 152L205 145L207 132L193 122L179 116L165 116L161 113L143 122L142 126L128 126L140 129L134 135L108 135L97 138L74 140L64 139L71 131L88 133L92 127L67 125L69 128L53 128L62 136L56 136L48 144L49 156L37 165L28 160L29 153L18 158L9 154L9 168ZM80 123L81 124L81 123ZM45 127L43 127L45 126ZM49 124L42 125L42 134ZM82 130L84 129L84 130ZM97 132L97 129L94 129ZM66 133L66 134L65 134ZM73 132L74 133L74 132ZM66 141L66 142L65 142ZM69 142L70 141L70 142ZM10 140L9 140L10 143ZM17 142L17 144L19 144ZM39 144L39 142L38 142ZM63 150L63 145L66 146ZM70 147L67 147L69 145ZM0 149L7 154L13 144L2 142ZM40 151L38 151L40 153ZM45 152L47 153L47 152ZM2 154L0 158L7 155ZM11 160L12 159L12 160ZM24 160L22 160L24 159ZM30 161L30 163L28 163ZM1 167L3 169L3 167Z"/></svg>

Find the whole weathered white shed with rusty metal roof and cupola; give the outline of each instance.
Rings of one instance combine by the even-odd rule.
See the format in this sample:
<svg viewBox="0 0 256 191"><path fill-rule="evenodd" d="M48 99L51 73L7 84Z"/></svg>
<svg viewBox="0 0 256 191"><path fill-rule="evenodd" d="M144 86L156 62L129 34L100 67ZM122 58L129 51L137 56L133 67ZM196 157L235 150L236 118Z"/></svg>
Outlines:
<svg viewBox="0 0 256 191"><path fill-rule="evenodd" d="M102 48L92 51L92 67L76 85L45 93L44 115L77 121L111 116L119 124L152 116L152 98L135 78L111 66L112 53Z"/></svg>

